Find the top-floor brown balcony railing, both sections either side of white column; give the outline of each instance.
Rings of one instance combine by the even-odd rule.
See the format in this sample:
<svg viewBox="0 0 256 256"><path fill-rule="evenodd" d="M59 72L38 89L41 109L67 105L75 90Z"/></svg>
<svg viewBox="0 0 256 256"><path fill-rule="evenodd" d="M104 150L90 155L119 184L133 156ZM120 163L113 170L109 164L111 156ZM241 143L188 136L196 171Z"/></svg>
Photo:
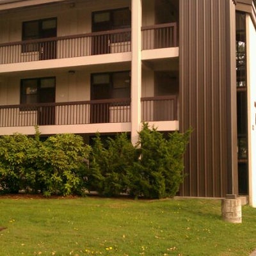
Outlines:
<svg viewBox="0 0 256 256"><path fill-rule="evenodd" d="M177 47L177 23L141 28L142 49ZM131 51L131 29L0 44L0 64L76 58Z"/></svg>

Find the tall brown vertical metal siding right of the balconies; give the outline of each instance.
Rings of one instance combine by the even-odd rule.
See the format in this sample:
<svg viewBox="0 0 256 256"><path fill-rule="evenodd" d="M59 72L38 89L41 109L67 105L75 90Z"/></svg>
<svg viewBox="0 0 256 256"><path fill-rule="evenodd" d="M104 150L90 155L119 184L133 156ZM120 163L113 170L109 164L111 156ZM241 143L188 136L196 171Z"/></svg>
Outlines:
<svg viewBox="0 0 256 256"><path fill-rule="evenodd" d="M184 159L183 196L232 193L234 14L232 0L180 0L180 131L194 130Z"/></svg>

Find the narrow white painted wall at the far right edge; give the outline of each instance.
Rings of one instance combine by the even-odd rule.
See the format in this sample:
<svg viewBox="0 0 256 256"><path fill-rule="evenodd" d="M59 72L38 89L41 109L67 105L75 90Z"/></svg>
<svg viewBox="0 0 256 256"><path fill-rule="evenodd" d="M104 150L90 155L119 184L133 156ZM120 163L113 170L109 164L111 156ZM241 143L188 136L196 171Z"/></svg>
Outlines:
<svg viewBox="0 0 256 256"><path fill-rule="evenodd" d="M249 203L256 207L256 30L249 15L246 16L247 68L248 68L248 172Z"/></svg>

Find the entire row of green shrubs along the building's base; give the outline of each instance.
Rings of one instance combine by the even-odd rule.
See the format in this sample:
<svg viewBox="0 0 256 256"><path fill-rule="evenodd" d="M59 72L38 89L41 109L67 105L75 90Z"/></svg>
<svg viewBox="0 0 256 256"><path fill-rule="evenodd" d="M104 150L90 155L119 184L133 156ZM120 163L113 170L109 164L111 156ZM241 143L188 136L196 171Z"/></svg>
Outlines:
<svg viewBox="0 0 256 256"><path fill-rule="evenodd" d="M76 134L57 134L42 141L37 127L33 137L2 136L0 193L174 196L184 179L183 155L190 133L191 129L164 136L144 124L135 146L126 133L106 141L98 133L92 147Z"/></svg>

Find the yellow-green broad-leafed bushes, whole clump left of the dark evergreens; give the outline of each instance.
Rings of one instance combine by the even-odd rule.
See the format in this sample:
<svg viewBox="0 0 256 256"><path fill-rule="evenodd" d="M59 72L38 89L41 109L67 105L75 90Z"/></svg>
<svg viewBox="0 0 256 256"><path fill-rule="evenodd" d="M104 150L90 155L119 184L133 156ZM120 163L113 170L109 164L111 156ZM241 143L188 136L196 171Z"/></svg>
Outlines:
<svg viewBox="0 0 256 256"><path fill-rule="evenodd" d="M60 134L40 141L13 134L0 138L0 189L2 193L20 190L45 195L81 194L84 191L86 159L90 147L75 134Z"/></svg>

